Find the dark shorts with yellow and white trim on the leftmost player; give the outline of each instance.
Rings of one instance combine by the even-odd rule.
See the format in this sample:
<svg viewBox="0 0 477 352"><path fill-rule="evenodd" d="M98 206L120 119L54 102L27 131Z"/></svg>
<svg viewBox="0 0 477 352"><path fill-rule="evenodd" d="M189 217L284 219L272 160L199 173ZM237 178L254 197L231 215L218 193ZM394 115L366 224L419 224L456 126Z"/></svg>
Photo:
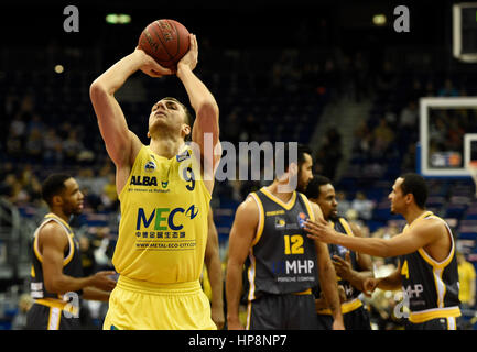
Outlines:
<svg viewBox="0 0 477 352"><path fill-rule="evenodd" d="M79 330L78 311L67 302L36 299L26 315L26 330Z"/></svg>

